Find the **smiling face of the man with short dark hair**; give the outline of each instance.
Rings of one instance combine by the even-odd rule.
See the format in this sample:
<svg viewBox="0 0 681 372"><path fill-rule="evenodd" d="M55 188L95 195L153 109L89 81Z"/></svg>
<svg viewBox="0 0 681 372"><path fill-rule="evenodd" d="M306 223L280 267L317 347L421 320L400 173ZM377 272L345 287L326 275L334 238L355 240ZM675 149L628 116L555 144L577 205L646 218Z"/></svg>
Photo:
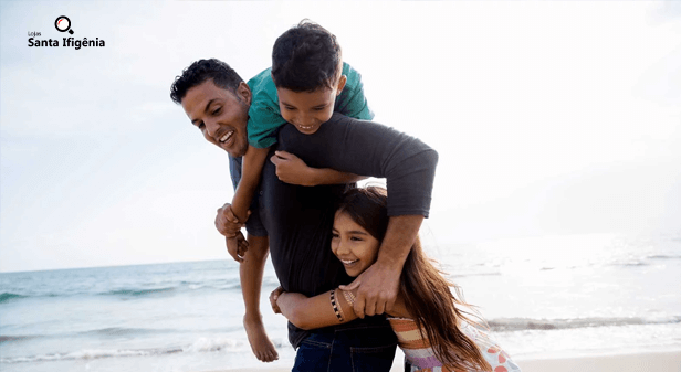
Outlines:
<svg viewBox="0 0 681 372"><path fill-rule="evenodd" d="M211 78L187 91L182 98L191 124L206 140L232 157L243 156L249 147L245 126L250 106L251 89L243 82L234 94L217 86Z"/></svg>

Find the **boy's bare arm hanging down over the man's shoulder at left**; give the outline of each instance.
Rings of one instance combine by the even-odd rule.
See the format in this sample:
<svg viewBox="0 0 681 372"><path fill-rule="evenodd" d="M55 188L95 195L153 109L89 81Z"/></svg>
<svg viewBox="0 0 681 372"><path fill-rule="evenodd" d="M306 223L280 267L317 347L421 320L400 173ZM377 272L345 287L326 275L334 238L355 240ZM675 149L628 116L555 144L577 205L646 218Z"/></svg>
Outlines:
<svg viewBox="0 0 681 372"><path fill-rule="evenodd" d="M247 213L260 182L268 152L269 148L260 149L249 145L249 149L243 156L241 181L239 181L232 199L232 213L239 222L245 222L248 219Z"/></svg>

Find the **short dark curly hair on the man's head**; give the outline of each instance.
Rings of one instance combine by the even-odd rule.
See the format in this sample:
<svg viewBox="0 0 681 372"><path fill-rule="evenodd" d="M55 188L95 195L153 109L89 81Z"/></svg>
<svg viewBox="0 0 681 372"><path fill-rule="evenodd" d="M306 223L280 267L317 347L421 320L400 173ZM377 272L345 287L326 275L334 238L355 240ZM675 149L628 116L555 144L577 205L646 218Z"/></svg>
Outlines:
<svg viewBox="0 0 681 372"><path fill-rule="evenodd" d="M241 76L224 62L217 59L199 60L185 68L181 76L175 77L170 86L170 98L176 104L181 104L187 91L209 78L212 78L217 86L234 94L239 84L243 82Z"/></svg>

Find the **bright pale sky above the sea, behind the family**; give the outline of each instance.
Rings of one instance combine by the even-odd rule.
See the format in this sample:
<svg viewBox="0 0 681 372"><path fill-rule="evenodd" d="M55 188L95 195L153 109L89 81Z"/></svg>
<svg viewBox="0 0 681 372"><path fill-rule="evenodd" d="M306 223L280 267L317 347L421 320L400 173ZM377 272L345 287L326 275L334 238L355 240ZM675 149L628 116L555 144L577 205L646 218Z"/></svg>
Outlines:
<svg viewBox="0 0 681 372"><path fill-rule="evenodd" d="M681 2L0 7L0 272L228 258L227 155L169 87L202 57L250 78L303 18L440 153L433 244L681 226ZM59 15L105 46L61 46Z"/></svg>

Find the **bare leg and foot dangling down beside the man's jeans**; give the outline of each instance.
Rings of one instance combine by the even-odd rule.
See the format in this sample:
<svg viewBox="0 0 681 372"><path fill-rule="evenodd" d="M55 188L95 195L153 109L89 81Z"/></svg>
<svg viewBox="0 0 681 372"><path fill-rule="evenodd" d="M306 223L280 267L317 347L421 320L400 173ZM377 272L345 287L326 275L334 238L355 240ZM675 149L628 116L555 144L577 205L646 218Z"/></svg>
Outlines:
<svg viewBox="0 0 681 372"><path fill-rule="evenodd" d="M255 358L263 362L271 362L279 359L279 354L265 332L260 312L262 277L270 252L269 238L249 234L248 241L249 249L243 256L243 263L239 266L241 291L245 305L243 327Z"/></svg>

